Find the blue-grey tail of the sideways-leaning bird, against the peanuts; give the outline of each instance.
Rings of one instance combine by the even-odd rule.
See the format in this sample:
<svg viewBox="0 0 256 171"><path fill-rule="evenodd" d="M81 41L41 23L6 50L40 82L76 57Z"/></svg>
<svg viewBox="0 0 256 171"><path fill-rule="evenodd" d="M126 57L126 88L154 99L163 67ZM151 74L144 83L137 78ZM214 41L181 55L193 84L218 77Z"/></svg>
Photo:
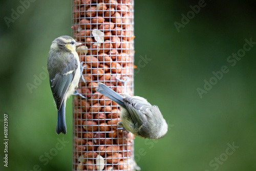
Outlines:
<svg viewBox="0 0 256 171"><path fill-rule="evenodd" d="M125 104L123 103L123 97L117 94L114 90L107 87L105 84L99 82L98 88L95 89L97 92L101 93L102 95L110 98L111 100L115 101L119 104L122 108L126 108Z"/></svg>

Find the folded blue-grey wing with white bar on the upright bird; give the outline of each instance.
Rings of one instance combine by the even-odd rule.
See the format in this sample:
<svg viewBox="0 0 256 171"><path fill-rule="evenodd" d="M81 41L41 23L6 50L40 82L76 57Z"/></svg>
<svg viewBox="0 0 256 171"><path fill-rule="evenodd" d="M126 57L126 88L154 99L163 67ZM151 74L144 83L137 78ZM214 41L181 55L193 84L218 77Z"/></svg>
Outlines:
<svg viewBox="0 0 256 171"><path fill-rule="evenodd" d="M57 110L60 109L78 67L78 63L75 60L74 55L69 54L69 57L69 63L67 66L63 67L62 72L56 73L54 78L50 78L50 86L52 89L53 98L57 105Z"/></svg>

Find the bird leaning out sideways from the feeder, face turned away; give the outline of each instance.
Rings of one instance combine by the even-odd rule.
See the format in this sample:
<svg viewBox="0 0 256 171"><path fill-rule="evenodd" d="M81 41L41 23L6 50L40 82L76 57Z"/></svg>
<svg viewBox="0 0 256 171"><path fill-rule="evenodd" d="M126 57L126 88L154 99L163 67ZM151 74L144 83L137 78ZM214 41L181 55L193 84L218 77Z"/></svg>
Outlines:
<svg viewBox="0 0 256 171"><path fill-rule="evenodd" d="M121 106L121 122L118 122L118 126L126 131L148 139L160 139L167 133L168 125L158 106L151 105L143 97L127 94L122 97L101 82L95 90Z"/></svg>

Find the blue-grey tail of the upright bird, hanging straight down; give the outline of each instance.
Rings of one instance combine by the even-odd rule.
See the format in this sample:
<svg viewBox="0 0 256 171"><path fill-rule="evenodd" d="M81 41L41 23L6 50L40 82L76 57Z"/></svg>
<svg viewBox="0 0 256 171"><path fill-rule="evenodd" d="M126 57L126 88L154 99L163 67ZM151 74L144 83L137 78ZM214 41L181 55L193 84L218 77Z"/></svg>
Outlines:
<svg viewBox="0 0 256 171"><path fill-rule="evenodd" d="M56 133L67 133L66 118L65 118L65 103L62 103L58 111L58 119L56 125Z"/></svg>

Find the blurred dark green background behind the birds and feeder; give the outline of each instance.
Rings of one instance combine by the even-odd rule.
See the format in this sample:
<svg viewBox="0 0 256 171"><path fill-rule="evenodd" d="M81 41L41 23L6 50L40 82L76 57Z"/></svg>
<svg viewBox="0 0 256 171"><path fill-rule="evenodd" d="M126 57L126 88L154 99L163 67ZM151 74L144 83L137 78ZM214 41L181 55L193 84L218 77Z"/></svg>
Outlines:
<svg viewBox="0 0 256 171"><path fill-rule="evenodd" d="M200 1L202 2L202 1ZM254 1L135 1L135 94L157 104L169 123L161 140L135 140L142 170L256 170L256 45L236 65L232 53L243 52L245 39L256 41ZM72 1L34 1L13 23L4 17L21 3L1 1L0 170L71 170L72 116L68 134L55 133L56 109L44 67L51 42L71 35ZM182 24L182 14L189 22ZM249 47L248 45L246 46ZM200 98L212 72L228 72ZM41 82L32 89L35 76ZM72 98L67 102L72 113ZM8 114L8 168L4 167L3 114ZM57 142L63 148L54 151ZM228 148L234 144L236 148ZM239 148L237 148L239 146ZM48 161L46 155L51 152ZM233 152L231 155L230 153ZM229 154L229 155L228 155Z"/></svg>

